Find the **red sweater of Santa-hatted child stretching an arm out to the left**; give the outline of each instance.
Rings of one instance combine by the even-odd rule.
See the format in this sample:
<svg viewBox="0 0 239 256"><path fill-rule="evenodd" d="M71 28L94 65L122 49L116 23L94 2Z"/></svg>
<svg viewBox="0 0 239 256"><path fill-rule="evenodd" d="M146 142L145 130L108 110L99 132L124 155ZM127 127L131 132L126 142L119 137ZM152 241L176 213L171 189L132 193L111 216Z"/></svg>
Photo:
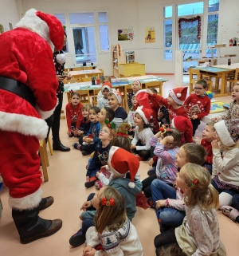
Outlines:
<svg viewBox="0 0 239 256"><path fill-rule="evenodd" d="M184 107L180 107L177 109L173 108L170 104L167 103L167 99L163 98L163 96L153 94L150 96L150 99L152 103L154 100L157 100L156 102L158 102L158 104L163 104L168 109L170 120L172 120L175 116L185 116L186 118L188 118Z"/></svg>

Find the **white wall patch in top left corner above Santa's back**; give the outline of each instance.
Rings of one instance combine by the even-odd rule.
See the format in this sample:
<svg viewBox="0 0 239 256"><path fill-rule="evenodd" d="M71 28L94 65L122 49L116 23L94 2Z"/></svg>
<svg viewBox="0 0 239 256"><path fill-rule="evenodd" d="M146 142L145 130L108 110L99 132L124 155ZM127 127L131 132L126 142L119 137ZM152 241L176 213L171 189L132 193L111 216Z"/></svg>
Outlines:
<svg viewBox="0 0 239 256"><path fill-rule="evenodd" d="M15 26L18 21L18 8L16 0L0 0L0 24L4 31L10 30L9 22Z"/></svg>

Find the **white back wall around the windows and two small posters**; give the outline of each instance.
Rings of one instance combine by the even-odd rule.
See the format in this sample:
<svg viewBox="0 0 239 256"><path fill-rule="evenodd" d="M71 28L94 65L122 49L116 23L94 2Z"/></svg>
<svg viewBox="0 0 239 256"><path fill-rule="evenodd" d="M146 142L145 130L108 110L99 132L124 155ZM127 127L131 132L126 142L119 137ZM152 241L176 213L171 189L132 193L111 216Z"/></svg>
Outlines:
<svg viewBox="0 0 239 256"><path fill-rule="evenodd" d="M193 0L22 0L22 8L24 11L35 8L51 14L53 11L108 10L110 43L112 45L121 44L123 50L135 50L135 61L145 63L146 72L174 73L174 61L163 61L163 4L169 5L177 2L193 2ZM239 34L236 33L236 20L239 18L238 8L235 8L237 5L238 0L221 0L218 30L221 41L218 43L229 43L230 37L239 37ZM117 41L117 30L128 26L134 27L134 40ZM156 41L154 44L144 42L144 29L147 26L155 26ZM176 33L178 33L177 27L176 25ZM239 56L239 47L221 49L221 55L235 52ZM221 59L221 63L226 61L226 58ZM232 61L239 62L239 57L234 57ZM112 75L111 53L99 54L98 62L99 68L104 69L104 74Z"/></svg>

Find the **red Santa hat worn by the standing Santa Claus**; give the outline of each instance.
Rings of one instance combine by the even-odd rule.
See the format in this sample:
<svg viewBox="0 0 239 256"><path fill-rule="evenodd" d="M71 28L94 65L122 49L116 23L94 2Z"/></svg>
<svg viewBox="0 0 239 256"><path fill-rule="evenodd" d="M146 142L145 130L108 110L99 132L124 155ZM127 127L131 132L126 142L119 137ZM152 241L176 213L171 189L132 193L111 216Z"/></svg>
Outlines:
<svg viewBox="0 0 239 256"><path fill-rule="evenodd" d="M16 28L18 27L38 33L46 41L53 43L58 50L63 48L64 28L61 22L51 14L30 9L25 12L24 17L18 22Z"/></svg>

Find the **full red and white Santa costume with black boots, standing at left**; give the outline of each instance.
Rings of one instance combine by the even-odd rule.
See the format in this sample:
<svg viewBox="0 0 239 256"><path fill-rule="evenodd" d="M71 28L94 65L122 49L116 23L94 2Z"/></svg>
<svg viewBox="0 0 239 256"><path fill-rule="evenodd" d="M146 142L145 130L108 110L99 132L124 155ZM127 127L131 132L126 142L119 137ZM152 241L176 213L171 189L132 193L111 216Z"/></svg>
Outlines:
<svg viewBox="0 0 239 256"><path fill-rule="evenodd" d="M53 198L41 199L39 140L57 105L53 48L62 49L64 29L53 15L31 9L14 30L0 35L0 172L22 243L54 234L61 219L38 216ZM42 69L45 66L45 69Z"/></svg>

